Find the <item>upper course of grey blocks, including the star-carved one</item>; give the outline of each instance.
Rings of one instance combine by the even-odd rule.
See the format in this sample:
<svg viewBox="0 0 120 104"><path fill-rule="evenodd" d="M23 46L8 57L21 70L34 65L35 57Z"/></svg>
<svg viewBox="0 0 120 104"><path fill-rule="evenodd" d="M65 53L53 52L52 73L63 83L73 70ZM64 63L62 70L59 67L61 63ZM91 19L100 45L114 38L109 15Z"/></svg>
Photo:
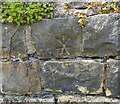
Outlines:
<svg viewBox="0 0 120 104"><path fill-rule="evenodd" d="M3 24L3 58L73 58L117 56L120 50L119 14L88 17L81 30L75 17L44 19L32 26ZM109 25L108 25L109 24Z"/></svg>

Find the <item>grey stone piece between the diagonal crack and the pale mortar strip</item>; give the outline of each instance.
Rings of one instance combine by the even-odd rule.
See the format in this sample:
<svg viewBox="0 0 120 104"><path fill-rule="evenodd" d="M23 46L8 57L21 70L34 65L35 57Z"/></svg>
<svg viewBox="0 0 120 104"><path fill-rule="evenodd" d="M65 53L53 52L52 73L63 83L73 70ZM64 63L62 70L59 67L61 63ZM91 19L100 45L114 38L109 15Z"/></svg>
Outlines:
<svg viewBox="0 0 120 104"><path fill-rule="evenodd" d="M27 47L24 42L26 38L25 32L25 26L20 26L14 36L12 36L10 44L10 56L21 57L20 55L25 55L27 53Z"/></svg>

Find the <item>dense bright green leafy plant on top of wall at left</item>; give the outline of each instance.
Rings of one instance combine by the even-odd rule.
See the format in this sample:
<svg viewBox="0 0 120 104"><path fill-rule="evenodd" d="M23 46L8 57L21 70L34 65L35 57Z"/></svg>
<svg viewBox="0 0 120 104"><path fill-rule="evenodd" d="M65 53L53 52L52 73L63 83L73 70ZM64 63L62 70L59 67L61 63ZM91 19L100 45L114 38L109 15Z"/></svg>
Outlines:
<svg viewBox="0 0 120 104"><path fill-rule="evenodd" d="M54 7L48 3L6 2L0 4L0 22L31 24L53 17Z"/></svg>

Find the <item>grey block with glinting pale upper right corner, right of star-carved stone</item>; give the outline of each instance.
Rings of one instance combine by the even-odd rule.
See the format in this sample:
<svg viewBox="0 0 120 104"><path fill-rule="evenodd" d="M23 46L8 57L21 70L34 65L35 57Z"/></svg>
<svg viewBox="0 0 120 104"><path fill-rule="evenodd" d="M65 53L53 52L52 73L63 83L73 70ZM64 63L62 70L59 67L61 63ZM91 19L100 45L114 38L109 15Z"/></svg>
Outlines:
<svg viewBox="0 0 120 104"><path fill-rule="evenodd" d="M119 14L101 14L88 18L88 23L83 28L83 56L118 54L119 18Z"/></svg>

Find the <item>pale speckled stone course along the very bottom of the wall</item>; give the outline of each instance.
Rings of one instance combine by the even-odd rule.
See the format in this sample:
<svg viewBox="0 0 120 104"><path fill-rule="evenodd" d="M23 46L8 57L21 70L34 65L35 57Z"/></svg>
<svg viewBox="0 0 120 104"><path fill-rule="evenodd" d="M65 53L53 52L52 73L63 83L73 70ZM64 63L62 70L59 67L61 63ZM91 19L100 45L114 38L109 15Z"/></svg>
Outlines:
<svg viewBox="0 0 120 104"><path fill-rule="evenodd" d="M4 96L0 97L2 104L119 104L119 99L106 98L102 96L79 96L79 95L58 95L56 96L57 102L54 97L27 97L27 96Z"/></svg>

